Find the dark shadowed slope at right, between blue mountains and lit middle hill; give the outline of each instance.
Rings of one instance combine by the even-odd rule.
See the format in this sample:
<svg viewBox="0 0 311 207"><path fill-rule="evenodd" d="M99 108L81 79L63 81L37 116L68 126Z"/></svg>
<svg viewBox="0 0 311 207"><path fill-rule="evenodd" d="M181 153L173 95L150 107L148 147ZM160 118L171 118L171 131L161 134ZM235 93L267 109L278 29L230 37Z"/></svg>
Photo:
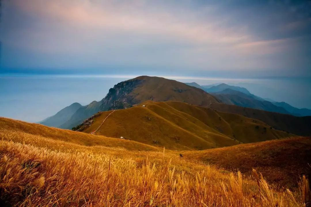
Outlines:
<svg viewBox="0 0 311 207"><path fill-rule="evenodd" d="M252 119L258 119L278 130L287 131L301 136L311 136L311 116L296 117L287 114L279 114L221 103L214 103L208 107L218 111L235 113Z"/></svg>

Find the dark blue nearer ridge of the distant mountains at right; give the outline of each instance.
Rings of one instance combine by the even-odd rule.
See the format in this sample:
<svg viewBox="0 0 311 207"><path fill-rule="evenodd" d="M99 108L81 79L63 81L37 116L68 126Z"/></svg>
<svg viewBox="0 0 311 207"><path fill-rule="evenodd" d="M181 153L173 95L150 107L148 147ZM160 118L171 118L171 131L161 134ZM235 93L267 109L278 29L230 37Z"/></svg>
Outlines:
<svg viewBox="0 0 311 207"><path fill-rule="evenodd" d="M236 106L248 107L253 109L272 111L282 114L290 114L283 107L276 106L270 101L260 101L253 94L245 94L232 89L225 89L220 92L211 93L218 101Z"/></svg>

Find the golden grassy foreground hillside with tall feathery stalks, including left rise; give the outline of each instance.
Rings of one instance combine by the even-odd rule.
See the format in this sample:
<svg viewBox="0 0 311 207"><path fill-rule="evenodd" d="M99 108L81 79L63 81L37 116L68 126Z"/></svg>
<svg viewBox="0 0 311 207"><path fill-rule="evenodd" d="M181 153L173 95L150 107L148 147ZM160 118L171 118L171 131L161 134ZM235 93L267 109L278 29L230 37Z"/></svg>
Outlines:
<svg viewBox="0 0 311 207"><path fill-rule="evenodd" d="M85 146L96 136L0 120L1 206L302 207L310 198L305 178L284 191L173 152Z"/></svg>

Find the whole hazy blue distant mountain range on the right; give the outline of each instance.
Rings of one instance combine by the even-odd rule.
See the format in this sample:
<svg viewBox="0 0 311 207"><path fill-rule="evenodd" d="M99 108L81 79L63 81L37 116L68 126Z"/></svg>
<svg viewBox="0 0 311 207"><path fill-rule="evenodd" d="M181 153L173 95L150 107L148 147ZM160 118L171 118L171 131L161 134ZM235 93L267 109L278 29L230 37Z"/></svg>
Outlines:
<svg viewBox="0 0 311 207"><path fill-rule="evenodd" d="M266 110L282 114L290 114L294 116L310 116L311 110L298 109L285 102L269 101L261 97L251 94L246 88L231 86L225 83L216 85L200 86L199 84L186 83L191 86L201 88L206 92L211 93L218 101L242 107L249 107L253 109Z"/></svg>

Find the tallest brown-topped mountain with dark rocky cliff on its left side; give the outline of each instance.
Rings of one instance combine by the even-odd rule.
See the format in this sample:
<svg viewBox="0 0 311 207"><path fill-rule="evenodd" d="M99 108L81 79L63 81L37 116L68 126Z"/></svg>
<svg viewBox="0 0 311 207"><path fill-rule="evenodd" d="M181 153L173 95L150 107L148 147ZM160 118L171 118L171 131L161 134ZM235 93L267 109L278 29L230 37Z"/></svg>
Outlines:
<svg viewBox="0 0 311 207"><path fill-rule="evenodd" d="M147 100L182 101L200 106L218 102L202 89L175 80L139 76L114 85L101 101L93 101L87 106L80 107L59 128L71 129L98 111L128 108Z"/></svg>

